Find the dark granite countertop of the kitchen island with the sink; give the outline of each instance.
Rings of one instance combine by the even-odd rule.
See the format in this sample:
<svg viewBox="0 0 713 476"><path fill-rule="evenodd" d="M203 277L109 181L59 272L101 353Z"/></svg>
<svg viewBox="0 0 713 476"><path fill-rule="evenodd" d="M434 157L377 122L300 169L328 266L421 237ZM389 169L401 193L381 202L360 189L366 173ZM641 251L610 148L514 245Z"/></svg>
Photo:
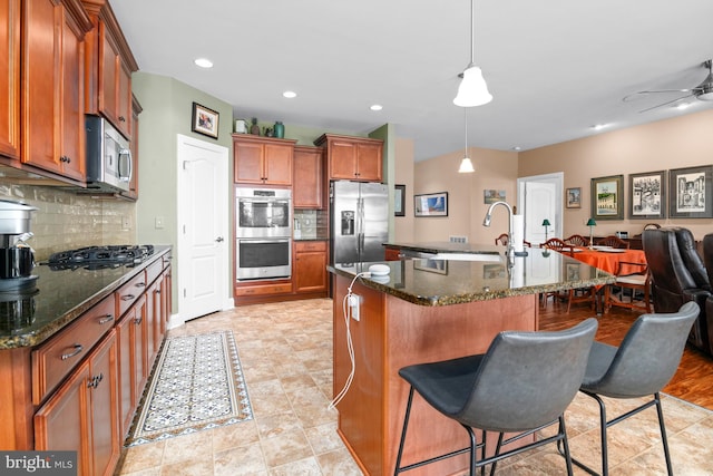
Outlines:
<svg viewBox="0 0 713 476"><path fill-rule="evenodd" d="M556 251L526 249L509 269L504 246L462 243L391 244L430 253L478 253L486 261L404 259L381 262L391 271L385 276L359 278L372 289L419 305L450 305L473 301L561 291L613 283L615 276ZM498 256L494 256L498 254ZM497 261L492 261L496 259ZM338 263L332 273L354 278L374 263Z"/></svg>

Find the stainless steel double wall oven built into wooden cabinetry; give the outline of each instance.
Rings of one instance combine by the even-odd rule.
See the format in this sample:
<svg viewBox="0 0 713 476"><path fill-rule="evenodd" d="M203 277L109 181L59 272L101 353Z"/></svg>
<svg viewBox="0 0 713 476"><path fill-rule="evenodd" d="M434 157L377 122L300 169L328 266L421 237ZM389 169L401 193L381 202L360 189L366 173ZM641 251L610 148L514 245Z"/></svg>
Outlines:
<svg viewBox="0 0 713 476"><path fill-rule="evenodd" d="M235 279L292 275L292 191L235 190Z"/></svg>

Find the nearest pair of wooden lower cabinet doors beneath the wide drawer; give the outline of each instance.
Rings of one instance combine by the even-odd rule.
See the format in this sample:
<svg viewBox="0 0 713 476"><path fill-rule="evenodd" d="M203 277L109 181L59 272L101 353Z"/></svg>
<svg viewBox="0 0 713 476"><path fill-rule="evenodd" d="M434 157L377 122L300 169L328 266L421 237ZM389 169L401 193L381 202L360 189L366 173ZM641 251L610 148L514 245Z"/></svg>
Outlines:
<svg viewBox="0 0 713 476"><path fill-rule="evenodd" d="M35 414L38 450L77 450L78 475L110 475L121 448L116 331Z"/></svg>

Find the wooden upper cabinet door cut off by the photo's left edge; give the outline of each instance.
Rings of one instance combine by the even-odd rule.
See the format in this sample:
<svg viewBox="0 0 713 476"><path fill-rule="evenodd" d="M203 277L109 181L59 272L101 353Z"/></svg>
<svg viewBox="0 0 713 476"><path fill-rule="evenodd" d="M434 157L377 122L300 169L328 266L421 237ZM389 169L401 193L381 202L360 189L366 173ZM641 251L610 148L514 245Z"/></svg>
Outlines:
<svg viewBox="0 0 713 476"><path fill-rule="evenodd" d="M20 0L0 4L0 154L20 158Z"/></svg>

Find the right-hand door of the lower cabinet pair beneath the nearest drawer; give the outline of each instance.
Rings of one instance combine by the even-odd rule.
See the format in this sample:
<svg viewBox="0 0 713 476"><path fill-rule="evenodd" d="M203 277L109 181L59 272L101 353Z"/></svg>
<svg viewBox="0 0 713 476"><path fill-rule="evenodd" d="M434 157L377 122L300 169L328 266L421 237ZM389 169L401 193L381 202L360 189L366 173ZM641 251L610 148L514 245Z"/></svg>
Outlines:
<svg viewBox="0 0 713 476"><path fill-rule="evenodd" d="M92 352L89 371L92 474L111 475L121 447L115 333Z"/></svg>

